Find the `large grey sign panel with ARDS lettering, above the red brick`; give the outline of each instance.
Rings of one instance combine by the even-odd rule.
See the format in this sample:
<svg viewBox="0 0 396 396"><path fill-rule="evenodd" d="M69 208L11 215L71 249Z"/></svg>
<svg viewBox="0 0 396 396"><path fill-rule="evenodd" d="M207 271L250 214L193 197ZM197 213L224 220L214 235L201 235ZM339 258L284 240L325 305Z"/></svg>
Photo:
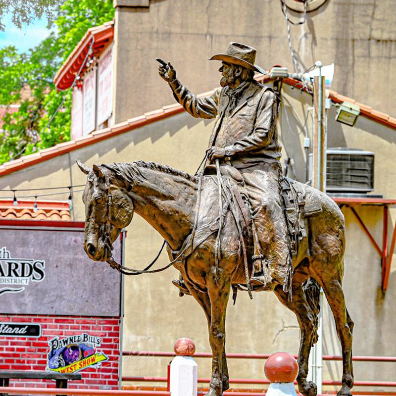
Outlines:
<svg viewBox="0 0 396 396"><path fill-rule="evenodd" d="M1 227L0 316L118 317L120 274L87 256L83 227ZM113 246L122 261L120 240Z"/></svg>

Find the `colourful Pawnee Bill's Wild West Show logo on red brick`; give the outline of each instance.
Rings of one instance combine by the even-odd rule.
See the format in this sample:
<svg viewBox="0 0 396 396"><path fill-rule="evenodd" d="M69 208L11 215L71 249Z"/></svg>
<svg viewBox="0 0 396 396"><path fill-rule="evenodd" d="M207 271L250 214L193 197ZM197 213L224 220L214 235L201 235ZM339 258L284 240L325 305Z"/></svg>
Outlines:
<svg viewBox="0 0 396 396"><path fill-rule="evenodd" d="M98 351L100 338L82 333L63 339L54 337L48 343L47 371L59 373L75 373L88 367L100 367L101 363L108 360L103 352Z"/></svg>

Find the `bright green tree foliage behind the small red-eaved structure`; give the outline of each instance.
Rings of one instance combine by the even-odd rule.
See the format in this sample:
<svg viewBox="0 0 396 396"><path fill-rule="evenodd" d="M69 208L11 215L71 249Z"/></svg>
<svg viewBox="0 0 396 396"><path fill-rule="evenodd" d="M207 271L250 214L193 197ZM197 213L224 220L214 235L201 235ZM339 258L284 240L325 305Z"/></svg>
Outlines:
<svg viewBox="0 0 396 396"><path fill-rule="evenodd" d="M53 21L56 32L39 46L0 49L0 104L20 103L2 118L0 163L70 139L71 92L57 92L52 79L87 29L113 16L112 0L66 0Z"/></svg>

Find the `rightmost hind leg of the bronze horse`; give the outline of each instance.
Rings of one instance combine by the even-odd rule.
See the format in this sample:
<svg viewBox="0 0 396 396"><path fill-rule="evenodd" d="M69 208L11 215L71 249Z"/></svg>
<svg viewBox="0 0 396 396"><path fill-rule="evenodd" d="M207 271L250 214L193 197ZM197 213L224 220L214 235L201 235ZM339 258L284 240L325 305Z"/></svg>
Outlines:
<svg viewBox="0 0 396 396"><path fill-rule="evenodd" d="M343 271L341 271L342 273ZM353 322L350 318L345 305L345 297L342 288L340 271L332 279L322 278L323 291L329 302L336 322L337 335L341 342L343 352L343 378L342 387L338 396L352 395L350 389L353 387L353 368L352 368L352 330ZM319 280L319 279L318 279Z"/></svg>

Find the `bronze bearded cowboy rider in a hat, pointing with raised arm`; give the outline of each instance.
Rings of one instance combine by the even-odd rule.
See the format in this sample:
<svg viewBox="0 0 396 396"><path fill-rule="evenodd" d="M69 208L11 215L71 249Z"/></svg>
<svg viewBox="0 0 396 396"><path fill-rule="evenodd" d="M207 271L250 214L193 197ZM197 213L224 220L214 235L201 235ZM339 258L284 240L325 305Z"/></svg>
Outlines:
<svg viewBox="0 0 396 396"><path fill-rule="evenodd" d="M277 113L279 99L269 87L254 80L254 72L267 74L255 65L256 50L230 43L220 60L221 89L210 97L197 98L176 78L173 66L162 62L159 75L169 84L175 99L194 117L216 118L207 149L208 160L236 168L243 178L252 206L254 273L252 286L288 290L291 259L286 240L286 220L281 202L282 167L279 161ZM183 280L174 280L184 293Z"/></svg>

